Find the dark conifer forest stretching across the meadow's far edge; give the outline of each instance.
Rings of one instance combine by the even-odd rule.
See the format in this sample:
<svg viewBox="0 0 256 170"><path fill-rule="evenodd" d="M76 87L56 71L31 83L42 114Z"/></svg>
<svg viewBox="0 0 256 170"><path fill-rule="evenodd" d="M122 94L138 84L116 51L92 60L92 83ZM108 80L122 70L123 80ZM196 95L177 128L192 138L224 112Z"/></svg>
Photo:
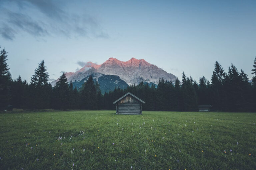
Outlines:
<svg viewBox="0 0 256 170"><path fill-rule="evenodd" d="M1 47L0 47L1 48ZM101 94L99 84L92 76L77 89L68 83L64 74L54 87L49 83L44 60L35 69L30 82L21 76L12 79L7 64L7 52L0 52L0 110L21 109L107 109L114 110L113 101L131 92L146 103L143 110L149 111L197 111L198 105L212 105L214 111L256 111L256 57L252 69L253 79L238 71L231 64L225 72L219 62L215 62L211 80L204 76L197 83L183 72L182 79L174 82L159 79L157 87L140 82L126 89Z"/></svg>

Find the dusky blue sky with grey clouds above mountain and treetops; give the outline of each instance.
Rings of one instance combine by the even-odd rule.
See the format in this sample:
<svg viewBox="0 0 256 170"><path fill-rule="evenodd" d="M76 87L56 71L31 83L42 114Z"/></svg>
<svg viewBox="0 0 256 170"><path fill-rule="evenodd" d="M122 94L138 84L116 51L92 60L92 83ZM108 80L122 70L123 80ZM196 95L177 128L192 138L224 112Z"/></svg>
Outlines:
<svg viewBox="0 0 256 170"><path fill-rule="evenodd" d="M215 61L251 79L256 1L1 0L0 46L12 77L30 82L44 60L50 80L85 62L145 59L181 79L211 79Z"/></svg>

